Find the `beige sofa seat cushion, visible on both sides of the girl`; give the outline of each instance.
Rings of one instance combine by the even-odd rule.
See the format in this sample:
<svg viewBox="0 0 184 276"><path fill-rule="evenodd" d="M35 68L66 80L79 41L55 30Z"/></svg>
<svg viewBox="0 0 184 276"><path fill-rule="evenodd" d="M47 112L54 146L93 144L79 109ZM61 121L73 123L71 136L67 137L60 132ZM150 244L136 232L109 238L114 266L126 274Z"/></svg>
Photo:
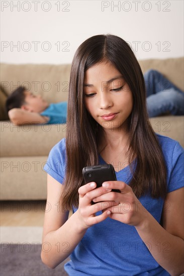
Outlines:
<svg viewBox="0 0 184 276"><path fill-rule="evenodd" d="M155 132L168 136L184 147L183 116L150 118ZM52 147L65 137L66 124L21 125L1 121L1 156L46 156Z"/></svg>

